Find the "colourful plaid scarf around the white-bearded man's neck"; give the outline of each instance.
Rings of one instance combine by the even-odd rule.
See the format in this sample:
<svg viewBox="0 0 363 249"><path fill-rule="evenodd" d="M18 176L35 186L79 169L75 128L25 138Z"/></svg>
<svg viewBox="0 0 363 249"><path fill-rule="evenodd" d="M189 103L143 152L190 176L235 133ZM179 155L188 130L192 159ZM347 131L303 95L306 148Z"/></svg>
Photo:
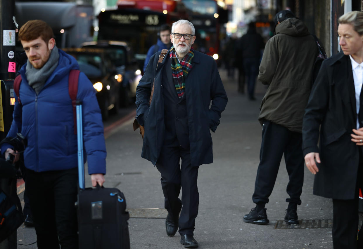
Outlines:
<svg viewBox="0 0 363 249"><path fill-rule="evenodd" d="M194 49L191 47L187 55L182 60L178 60L175 54L174 46L170 49L171 59L171 72L174 78L174 84L178 97L181 98L185 92L185 78L187 78L189 71L192 69L192 59L194 57Z"/></svg>

